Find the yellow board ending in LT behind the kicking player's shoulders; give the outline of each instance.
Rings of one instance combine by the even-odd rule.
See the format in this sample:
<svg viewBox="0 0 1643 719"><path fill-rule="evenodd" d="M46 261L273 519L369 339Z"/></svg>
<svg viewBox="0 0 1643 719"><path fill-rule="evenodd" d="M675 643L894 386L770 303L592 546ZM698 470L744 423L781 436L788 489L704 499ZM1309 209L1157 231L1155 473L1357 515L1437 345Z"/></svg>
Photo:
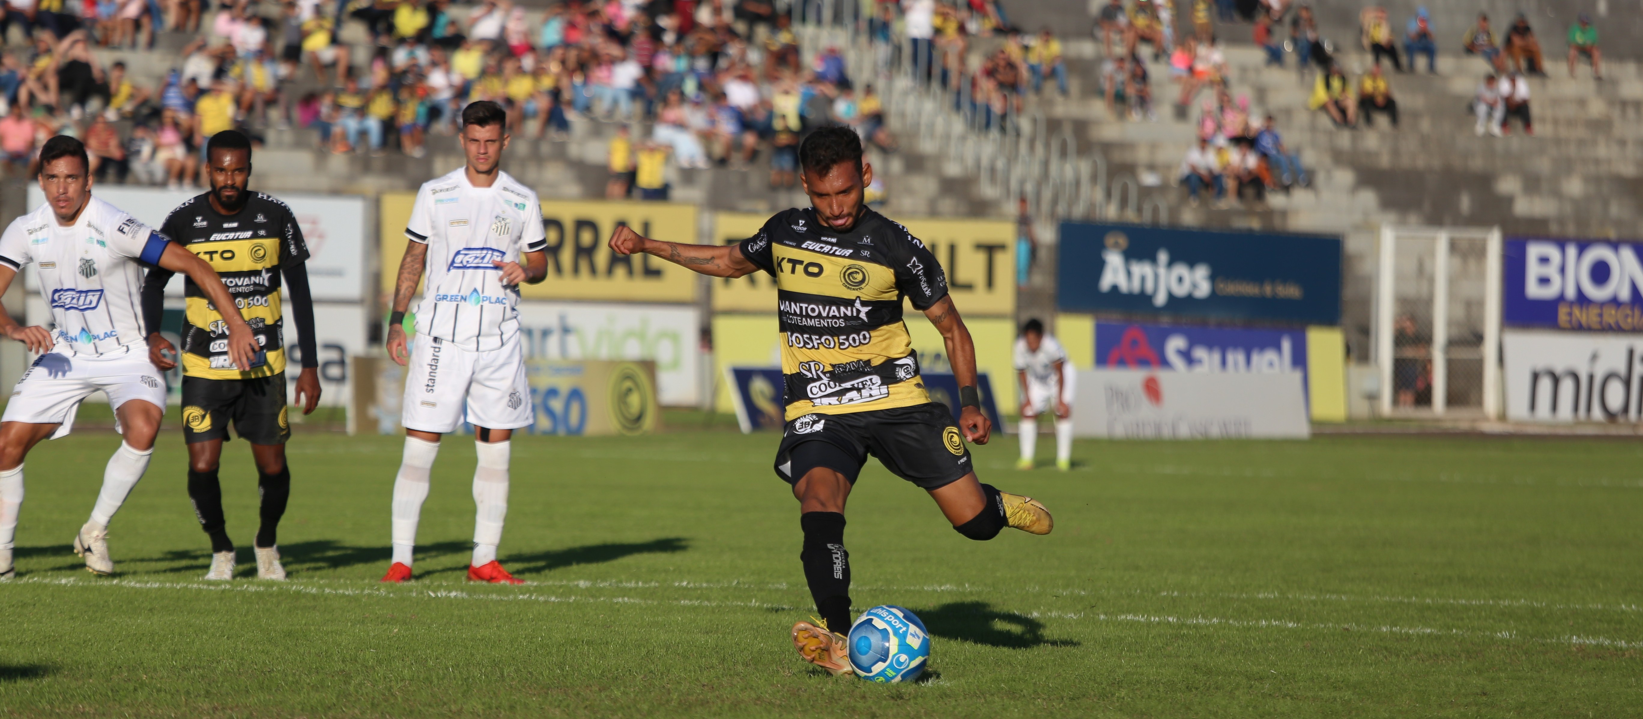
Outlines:
<svg viewBox="0 0 1643 719"><path fill-rule="evenodd" d="M729 245L759 233L771 215L716 212L713 240ZM1015 225L1001 220L897 220L941 261L953 304L964 317L1015 315ZM713 281L715 312L775 312L775 279L754 272ZM1002 412L1002 409L1001 409Z"/></svg>

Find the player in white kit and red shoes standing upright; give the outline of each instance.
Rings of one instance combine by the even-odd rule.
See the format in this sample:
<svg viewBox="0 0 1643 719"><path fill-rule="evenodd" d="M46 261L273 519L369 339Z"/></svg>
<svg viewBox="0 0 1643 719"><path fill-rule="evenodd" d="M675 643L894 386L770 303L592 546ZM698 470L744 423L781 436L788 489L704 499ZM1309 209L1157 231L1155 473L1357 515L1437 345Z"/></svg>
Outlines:
<svg viewBox="0 0 1643 719"><path fill-rule="evenodd" d="M508 514L508 440L536 422L519 343L519 282L547 276L536 192L499 169L508 115L481 100L462 110L467 166L422 184L406 227L388 356L406 364L406 307L427 271L406 371L406 450L394 478L394 558L383 581L411 578L416 527L439 438L463 417L475 427L473 560L468 579L521 584L496 561ZM519 264L524 258L524 266Z"/></svg>

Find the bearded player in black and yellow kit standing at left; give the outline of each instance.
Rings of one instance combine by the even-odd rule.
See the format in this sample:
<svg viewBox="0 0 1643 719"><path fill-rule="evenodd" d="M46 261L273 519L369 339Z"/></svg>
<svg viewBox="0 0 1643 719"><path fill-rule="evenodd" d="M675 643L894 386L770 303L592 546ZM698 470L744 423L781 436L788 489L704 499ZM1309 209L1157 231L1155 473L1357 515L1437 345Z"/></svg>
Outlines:
<svg viewBox="0 0 1643 719"><path fill-rule="evenodd" d="M281 317L283 287L291 291L292 315L297 322L297 346L302 373L297 376L297 402L302 414L319 404L319 356L314 348L314 304L309 299L307 245L291 207L261 192L246 190L251 179L251 141L240 131L223 130L205 144L210 164L210 192L194 197L166 217L159 231L210 264L220 276L233 302L240 307L260 351L250 371L230 364L212 327L222 315L192 281L184 286L187 323L182 328L182 440L189 445L189 499L194 514L210 537L210 571L207 579L233 579L233 542L228 540L222 515L222 484L217 469L222 443L228 442L228 420L235 433L251 443L256 461L256 489L261 496L261 525L251 548L256 553L256 576L284 579L279 548L274 545L279 517L291 497L291 469L286 466L286 440L291 422L286 417L286 345ZM148 325L148 358L161 369L177 363L176 353L159 335L159 318L166 304L166 282L173 272L154 269L143 282L143 322Z"/></svg>

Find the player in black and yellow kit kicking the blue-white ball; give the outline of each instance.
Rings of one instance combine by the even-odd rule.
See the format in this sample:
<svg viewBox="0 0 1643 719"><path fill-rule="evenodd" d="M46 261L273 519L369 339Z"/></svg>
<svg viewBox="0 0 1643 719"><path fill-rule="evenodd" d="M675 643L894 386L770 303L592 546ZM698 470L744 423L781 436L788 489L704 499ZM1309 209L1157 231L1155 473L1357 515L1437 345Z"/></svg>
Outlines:
<svg viewBox="0 0 1643 719"><path fill-rule="evenodd" d="M868 455L930 492L964 537L991 540L1004 527L1050 534L1043 504L976 479L964 440L992 432L976 392L976 348L946 294L935 254L905 227L869 210L872 167L861 138L823 128L798 148L810 208L772 217L739 245L675 245L618 227L616 253L649 253L715 277L775 276L787 427L775 474L798 497L805 581L822 614L794 625L800 657L835 675L849 670L849 553L845 499ZM902 297L941 332L958 376L961 419L932 402L902 322Z"/></svg>

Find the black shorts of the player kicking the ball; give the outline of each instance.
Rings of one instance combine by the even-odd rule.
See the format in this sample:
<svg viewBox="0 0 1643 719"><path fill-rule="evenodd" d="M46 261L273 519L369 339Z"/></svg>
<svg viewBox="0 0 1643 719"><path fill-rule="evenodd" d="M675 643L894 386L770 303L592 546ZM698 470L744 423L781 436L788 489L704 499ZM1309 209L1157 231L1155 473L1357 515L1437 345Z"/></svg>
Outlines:
<svg viewBox="0 0 1643 719"><path fill-rule="evenodd" d="M953 412L941 402L927 402L798 417L782 430L775 476L795 484L810 469L825 466L854 484L868 455L923 489L940 489L974 471Z"/></svg>

